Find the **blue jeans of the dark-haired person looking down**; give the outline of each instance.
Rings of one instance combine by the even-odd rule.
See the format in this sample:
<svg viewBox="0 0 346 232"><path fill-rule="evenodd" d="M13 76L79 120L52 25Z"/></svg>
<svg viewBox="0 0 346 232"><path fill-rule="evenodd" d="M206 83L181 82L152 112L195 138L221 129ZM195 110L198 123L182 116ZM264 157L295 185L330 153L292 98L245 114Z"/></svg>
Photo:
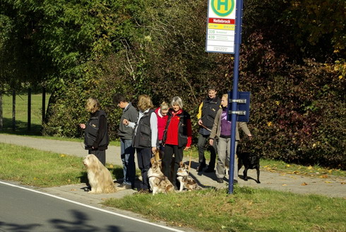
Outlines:
<svg viewBox="0 0 346 232"><path fill-rule="evenodd" d="M132 146L132 140L120 139L120 153L121 161L123 162L124 170L124 184L135 185L136 176L136 163L135 163L135 149Z"/></svg>

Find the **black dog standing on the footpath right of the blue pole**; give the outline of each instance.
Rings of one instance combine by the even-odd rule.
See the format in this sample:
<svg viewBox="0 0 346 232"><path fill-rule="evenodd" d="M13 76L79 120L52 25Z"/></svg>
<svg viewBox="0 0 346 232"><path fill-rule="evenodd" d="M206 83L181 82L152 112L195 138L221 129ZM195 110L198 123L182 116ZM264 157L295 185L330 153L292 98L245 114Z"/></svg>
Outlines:
<svg viewBox="0 0 346 232"><path fill-rule="evenodd" d="M259 156L255 153L242 152L238 153L238 171L244 165L244 180L247 181L247 170L256 169L257 170L257 183L259 181Z"/></svg>

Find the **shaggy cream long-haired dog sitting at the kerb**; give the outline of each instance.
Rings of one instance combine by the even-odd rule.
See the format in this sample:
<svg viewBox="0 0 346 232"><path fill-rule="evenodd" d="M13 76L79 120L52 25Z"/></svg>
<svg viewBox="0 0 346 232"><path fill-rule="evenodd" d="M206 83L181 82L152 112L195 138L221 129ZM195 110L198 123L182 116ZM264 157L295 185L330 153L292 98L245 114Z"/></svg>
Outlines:
<svg viewBox="0 0 346 232"><path fill-rule="evenodd" d="M111 173L95 155L86 156L83 164L88 170L88 180L91 187L88 193L117 192Z"/></svg>

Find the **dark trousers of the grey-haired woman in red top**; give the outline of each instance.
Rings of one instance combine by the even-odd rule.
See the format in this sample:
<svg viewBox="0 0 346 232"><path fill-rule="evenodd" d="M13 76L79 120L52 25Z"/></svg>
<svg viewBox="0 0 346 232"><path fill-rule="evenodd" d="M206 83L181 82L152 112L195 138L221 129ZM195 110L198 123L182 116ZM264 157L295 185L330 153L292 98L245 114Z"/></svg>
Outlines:
<svg viewBox="0 0 346 232"><path fill-rule="evenodd" d="M183 147L177 145L165 145L165 154L162 158L163 174L167 176L170 182L176 186L177 182L177 170L180 165L180 161L183 160ZM174 166L172 167L172 157L174 154ZM171 173L172 170L172 173Z"/></svg>

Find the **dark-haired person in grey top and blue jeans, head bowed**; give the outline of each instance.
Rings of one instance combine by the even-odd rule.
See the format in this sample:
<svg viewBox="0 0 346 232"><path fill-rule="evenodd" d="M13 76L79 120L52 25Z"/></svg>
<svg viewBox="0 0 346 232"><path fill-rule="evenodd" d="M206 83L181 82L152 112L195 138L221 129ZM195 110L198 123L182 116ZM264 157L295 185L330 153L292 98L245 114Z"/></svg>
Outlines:
<svg viewBox="0 0 346 232"><path fill-rule="evenodd" d="M119 132L120 137L120 151L121 161L123 163L124 181L119 188L130 189L135 186L136 177L136 163L135 163L135 149L132 146L133 128L126 127L124 120L130 122L137 122L138 111L122 94L114 95L113 103L123 109L123 114L120 118Z"/></svg>

